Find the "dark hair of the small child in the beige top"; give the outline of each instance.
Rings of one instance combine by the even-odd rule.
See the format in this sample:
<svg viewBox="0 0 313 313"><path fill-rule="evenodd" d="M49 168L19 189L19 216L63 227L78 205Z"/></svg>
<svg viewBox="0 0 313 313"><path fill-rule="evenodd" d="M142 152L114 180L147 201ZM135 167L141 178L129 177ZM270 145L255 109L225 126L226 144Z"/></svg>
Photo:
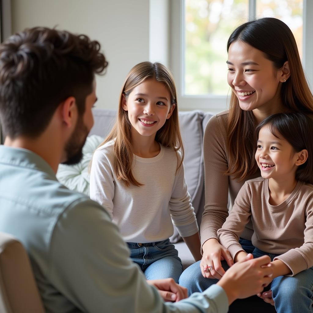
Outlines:
<svg viewBox="0 0 313 313"><path fill-rule="evenodd" d="M295 152L308 151L306 162L296 171L296 179L313 184L313 120L303 113L277 113L268 116L255 129L256 140L260 129L269 126L270 132L279 139L287 140Z"/></svg>

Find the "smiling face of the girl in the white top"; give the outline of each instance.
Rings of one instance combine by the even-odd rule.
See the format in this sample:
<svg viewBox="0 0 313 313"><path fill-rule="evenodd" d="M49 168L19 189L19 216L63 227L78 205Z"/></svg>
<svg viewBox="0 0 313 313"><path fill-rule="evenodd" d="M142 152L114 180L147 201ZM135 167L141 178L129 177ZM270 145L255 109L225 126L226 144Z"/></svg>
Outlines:
<svg viewBox="0 0 313 313"><path fill-rule="evenodd" d="M145 80L123 99L123 109L128 111L132 131L136 130L142 136L155 136L174 108L166 85L155 79Z"/></svg>

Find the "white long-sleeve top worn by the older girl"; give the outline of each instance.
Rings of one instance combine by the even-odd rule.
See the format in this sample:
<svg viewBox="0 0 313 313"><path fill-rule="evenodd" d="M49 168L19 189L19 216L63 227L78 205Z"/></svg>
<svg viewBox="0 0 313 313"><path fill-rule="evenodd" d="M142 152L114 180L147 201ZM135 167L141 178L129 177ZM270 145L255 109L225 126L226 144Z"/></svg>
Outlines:
<svg viewBox="0 0 313 313"><path fill-rule="evenodd" d="M90 172L90 198L100 203L120 228L126 242L162 241L173 234L182 237L198 232L198 225L181 166L176 173L177 153L162 145L152 158L134 155L132 173L143 186L116 179L114 141L99 147ZM181 155L178 153L178 161Z"/></svg>

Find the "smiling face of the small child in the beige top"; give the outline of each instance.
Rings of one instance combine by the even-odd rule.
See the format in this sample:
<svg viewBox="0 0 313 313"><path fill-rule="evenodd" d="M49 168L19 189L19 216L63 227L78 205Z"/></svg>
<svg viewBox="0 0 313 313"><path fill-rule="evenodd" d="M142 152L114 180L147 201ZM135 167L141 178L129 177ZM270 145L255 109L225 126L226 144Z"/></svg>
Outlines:
<svg viewBox="0 0 313 313"><path fill-rule="evenodd" d="M275 137L265 125L260 129L257 144L255 160L263 178L295 177L298 154L287 140Z"/></svg>

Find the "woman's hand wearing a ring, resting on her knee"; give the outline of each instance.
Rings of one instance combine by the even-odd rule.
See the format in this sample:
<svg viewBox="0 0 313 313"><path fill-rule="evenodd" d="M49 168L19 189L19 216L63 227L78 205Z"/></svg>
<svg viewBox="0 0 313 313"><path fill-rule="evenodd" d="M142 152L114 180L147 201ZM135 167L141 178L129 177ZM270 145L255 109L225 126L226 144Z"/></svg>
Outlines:
<svg viewBox="0 0 313 313"><path fill-rule="evenodd" d="M220 279L225 274L221 260L225 260L229 267L234 264L229 251L215 238L208 239L202 249L200 269L203 277Z"/></svg>

